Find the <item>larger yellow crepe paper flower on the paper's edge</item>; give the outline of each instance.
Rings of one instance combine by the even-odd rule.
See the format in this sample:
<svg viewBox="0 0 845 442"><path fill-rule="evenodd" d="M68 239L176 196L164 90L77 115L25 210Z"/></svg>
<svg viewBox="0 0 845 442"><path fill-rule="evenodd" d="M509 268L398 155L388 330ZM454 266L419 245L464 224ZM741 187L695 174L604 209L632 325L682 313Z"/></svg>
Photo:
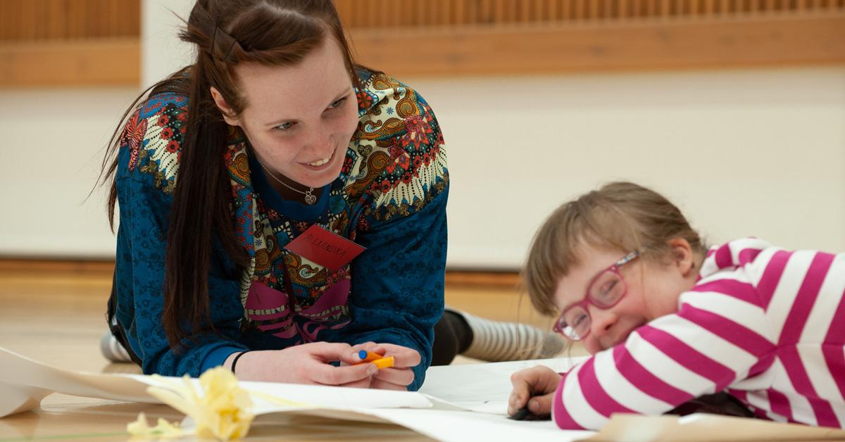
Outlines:
<svg viewBox="0 0 845 442"><path fill-rule="evenodd" d="M187 375L181 383L167 384L166 388L151 386L147 392L191 417L199 438L229 440L247 435L255 417L251 412L253 403L231 371L222 367L206 370L199 376L199 391Z"/></svg>

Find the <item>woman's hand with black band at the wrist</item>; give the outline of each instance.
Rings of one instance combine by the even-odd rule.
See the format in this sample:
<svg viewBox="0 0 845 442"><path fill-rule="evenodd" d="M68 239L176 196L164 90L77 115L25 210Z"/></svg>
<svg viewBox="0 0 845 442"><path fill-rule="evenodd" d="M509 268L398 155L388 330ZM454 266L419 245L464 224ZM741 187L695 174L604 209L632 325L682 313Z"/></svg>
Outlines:
<svg viewBox="0 0 845 442"><path fill-rule="evenodd" d="M226 358L224 366L232 367L235 356L237 353ZM379 371L372 363L335 367L332 361L359 362L349 344L311 342L284 350L248 352L237 360L236 375L241 380L369 388Z"/></svg>

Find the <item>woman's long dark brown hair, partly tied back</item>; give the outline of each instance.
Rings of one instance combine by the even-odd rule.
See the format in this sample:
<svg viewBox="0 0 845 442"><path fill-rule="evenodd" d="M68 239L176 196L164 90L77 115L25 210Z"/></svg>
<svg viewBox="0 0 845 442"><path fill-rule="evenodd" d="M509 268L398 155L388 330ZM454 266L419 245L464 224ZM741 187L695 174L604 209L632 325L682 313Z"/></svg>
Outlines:
<svg viewBox="0 0 845 442"><path fill-rule="evenodd" d="M341 46L353 84L360 88L352 54L330 0L199 0L179 37L197 47L193 65L145 90L123 114L103 160L101 183L111 182L106 203L114 230L117 150L123 123L150 92L188 97L188 122L167 228L162 323L170 345L215 332L210 320L208 275L214 244L243 270L248 256L234 231L232 190L223 156L228 126L210 95L219 90L237 116L248 105L233 68L238 63L292 66L325 38Z"/></svg>

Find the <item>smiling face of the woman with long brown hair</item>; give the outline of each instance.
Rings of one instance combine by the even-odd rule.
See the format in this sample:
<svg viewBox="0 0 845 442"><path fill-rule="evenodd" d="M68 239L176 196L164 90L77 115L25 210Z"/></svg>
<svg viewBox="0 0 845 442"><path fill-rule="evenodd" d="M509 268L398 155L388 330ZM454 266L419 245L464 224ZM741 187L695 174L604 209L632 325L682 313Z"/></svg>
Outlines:
<svg viewBox="0 0 845 442"><path fill-rule="evenodd" d="M258 160L276 176L319 188L341 172L358 122L341 47L327 37L300 63L234 68L247 106L226 122L243 128ZM217 106L225 101L212 88Z"/></svg>

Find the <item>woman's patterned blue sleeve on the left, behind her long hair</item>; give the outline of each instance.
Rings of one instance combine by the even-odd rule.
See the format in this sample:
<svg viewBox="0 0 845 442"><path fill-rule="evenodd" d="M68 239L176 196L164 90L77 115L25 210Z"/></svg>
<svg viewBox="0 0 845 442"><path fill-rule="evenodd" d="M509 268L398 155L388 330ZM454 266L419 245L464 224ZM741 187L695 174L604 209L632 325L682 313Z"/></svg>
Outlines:
<svg viewBox="0 0 845 442"><path fill-rule="evenodd" d="M210 272L211 321L218 335L184 342L173 352L161 325L167 220L182 142L184 102L176 96L150 99L128 121L117 165L120 226L117 232L116 317L145 374L198 376L243 350L235 342L243 306L238 278L230 278L220 248Z"/></svg>

